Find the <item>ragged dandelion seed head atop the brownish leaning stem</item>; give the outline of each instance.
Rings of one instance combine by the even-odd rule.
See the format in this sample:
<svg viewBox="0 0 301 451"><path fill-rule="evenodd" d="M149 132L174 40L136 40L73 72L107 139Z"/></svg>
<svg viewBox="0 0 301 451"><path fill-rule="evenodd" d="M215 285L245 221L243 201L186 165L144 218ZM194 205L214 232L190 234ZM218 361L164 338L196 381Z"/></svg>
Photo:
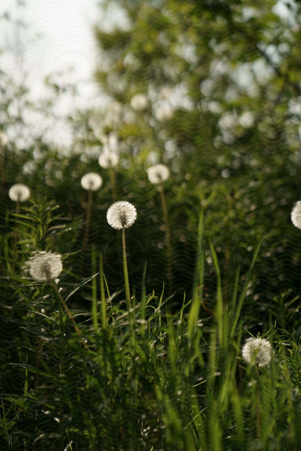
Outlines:
<svg viewBox="0 0 301 451"><path fill-rule="evenodd" d="M51 251L35 253L26 262L26 265L30 275L37 282L56 279L63 270L61 255Z"/></svg>

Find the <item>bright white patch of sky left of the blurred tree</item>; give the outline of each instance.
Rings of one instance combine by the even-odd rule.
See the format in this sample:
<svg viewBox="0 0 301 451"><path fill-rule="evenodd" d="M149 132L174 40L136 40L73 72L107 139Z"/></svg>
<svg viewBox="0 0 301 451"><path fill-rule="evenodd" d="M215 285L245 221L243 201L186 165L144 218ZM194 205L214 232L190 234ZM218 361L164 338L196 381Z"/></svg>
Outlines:
<svg viewBox="0 0 301 451"><path fill-rule="evenodd" d="M50 74L51 81L59 86L75 85L79 95L60 95L53 106L56 116L63 117L77 108L97 107L101 92L94 82L94 71L101 53L93 27L102 20L99 2L27 0L24 5L18 3L18 0L0 1L0 16L8 14L12 19L1 21L1 70L9 74L14 84L24 82L29 89L28 98L37 106L42 100L53 97L44 83ZM21 21L26 26L20 25ZM32 119L38 134L46 126L45 121L43 123L38 116ZM55 125L62 128L62 124ZM53 136L57 133L64 135L60 143L65 139L68 145L69 133L58 130Z"/></svg>

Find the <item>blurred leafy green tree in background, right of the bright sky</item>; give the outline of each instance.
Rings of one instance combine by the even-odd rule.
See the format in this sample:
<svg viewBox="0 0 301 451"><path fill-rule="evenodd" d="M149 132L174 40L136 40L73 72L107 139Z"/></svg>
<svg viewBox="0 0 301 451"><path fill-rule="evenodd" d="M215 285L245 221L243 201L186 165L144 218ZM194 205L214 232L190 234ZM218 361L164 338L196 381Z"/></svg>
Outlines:
<svg viewBox="0 0 301 451"><path fill-rule="evenodd" d="M262 288L298 284L284 260L289 253L296 261L300 249L283 235L295 234L289 212L301 197L299 5L130 0L103 2L101 10L97 80L111 100L84 123L92 146L107 135L123 154L126 175L121 171L119 182L126 180L130 192L151 190L137 166L170 166L176 280L190 268L195 244L184 230L193 235L199 203L211 195L208 234L222 249L225 275L234 254L242 270L248 267L250 240L264 232L270 235L264 256L275 256L264 264L281 274L270 284L262 272ZM144 203L139 193L136 202ZM160 215L156 189L152 198L148 221ZM154 256L164 243L153 246ZM210 250L207 255L213 273Z"/></svg>

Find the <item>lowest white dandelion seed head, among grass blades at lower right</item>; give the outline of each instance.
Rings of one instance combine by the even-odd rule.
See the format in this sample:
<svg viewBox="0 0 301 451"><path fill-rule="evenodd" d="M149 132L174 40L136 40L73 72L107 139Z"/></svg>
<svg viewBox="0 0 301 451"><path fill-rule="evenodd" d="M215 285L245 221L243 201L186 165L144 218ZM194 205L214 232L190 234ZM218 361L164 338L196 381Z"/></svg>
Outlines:
<svg viewBox="0 0 301 451"><path fill-rule="evenodd" d="M245 341L241 354L249 364L255 363L258 366L266 366L271 361L272 347L270 342L263 338L250 338Z"/></svg>

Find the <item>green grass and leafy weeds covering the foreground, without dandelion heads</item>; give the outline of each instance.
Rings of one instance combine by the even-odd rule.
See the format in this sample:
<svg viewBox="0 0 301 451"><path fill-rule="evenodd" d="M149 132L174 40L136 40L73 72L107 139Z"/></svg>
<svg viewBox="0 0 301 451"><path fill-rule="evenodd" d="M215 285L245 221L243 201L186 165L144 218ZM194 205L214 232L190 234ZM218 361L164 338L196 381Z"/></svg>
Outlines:
<svg viewBox="0 0 301 451"><path fill-rule="evenodd" d="M55 250L53 232L61 231L48 202L28 205L17 227L23 260L34 247ZM54 287L15 275L13 268L22 265L7 258L1 284L11 294L2 302L3 449L300 449L300 330L279 327L269 312L261 336L273 347L270 367L256 371L241 359L252 333L244 305L261 240L244 277L236 273L228 290L209 240L217 284L208 308L203 212L195 226L193 296L184 294L176 312L163 286L161 293L146 289L147 264L141 296L134 294L128 309L124 290L110 292L102 253L88 251L93 271L85 280L69 271L79 254L66 253L57 288L82 336ZM7 237L6 256L11 245ZM297 300L289 296L282 293L273 308L285 313Z"/></svg>

